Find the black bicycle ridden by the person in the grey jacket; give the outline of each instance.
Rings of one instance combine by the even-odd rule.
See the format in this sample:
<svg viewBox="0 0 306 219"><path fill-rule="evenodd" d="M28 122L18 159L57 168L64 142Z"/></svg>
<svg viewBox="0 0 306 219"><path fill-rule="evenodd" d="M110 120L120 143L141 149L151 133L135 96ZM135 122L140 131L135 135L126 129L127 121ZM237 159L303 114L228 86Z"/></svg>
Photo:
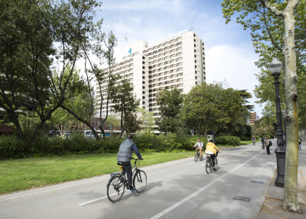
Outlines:
<svg viewBox="0 0 306 219"><path fill-rule="evenodd" d="M136 192L141 193L143 190L145 190L145 187L147 186L147 175L145 174L145 171L140 170L137 168L139 165L139 159L135 160L134 165L132 165L131 168L134 168L133 170L133 186L136 190ZM123 165L121 162L118 162L118 165L121 165L123 168ZM123 170L122 170L123 171ZM111 179L108 180L108 183L106 185L107 188L107 197L108 200L111 202L119 202L125 192L125 188L128 186L127 178L125 177L125 174L123 175L121 172L112 172Z"/></svg>

